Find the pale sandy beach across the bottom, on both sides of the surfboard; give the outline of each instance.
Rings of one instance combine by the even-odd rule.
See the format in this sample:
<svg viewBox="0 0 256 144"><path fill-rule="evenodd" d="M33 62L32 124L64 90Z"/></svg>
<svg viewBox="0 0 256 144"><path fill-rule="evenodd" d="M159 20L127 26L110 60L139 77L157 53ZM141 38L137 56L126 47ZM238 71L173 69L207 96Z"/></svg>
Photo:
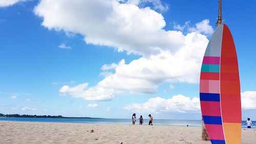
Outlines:
<svg viewBox="0 0 256 144"><path fill-rule="evenodd" d="M1 143L210 144L201 140L201 127L0 121L0 131ZM243 129L242 143L256 143L255 134Z"/></svg>

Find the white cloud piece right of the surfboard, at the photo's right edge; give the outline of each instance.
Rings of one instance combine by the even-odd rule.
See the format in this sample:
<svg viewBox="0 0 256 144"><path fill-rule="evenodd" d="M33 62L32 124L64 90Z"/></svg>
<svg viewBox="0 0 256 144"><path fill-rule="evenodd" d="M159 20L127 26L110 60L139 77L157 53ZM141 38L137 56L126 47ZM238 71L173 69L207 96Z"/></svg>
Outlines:
<svg viewBox="0 0 256 144"><path fill-rule="evenodd" d="M241 93L243 110L256 109L256 91L245 91Z"/></svg>

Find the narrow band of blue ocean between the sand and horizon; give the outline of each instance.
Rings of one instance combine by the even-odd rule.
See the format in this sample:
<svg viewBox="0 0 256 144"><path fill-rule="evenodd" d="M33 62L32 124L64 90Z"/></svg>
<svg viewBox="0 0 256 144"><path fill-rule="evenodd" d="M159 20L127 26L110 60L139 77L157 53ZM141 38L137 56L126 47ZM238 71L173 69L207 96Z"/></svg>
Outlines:
<svg viewBox="0 0 256 144"><path fill-rule="evenodd" d="M89 124L123 124L131 125L131 119L121 118L18 118L18 117L0 117L2 121L30 121L30 122L70 122L70 123L89 123ZM246 128L246 121L242 121L242 128ZM256 123L256 122L255 122ZM144 124L148 124L148 119L144 119ZM137 120L136 125L139 125ZM172 119L154 119L153 125L161 126L192 126L200 127L201 120L172 120ZM256 128L256 125L252 125Z"/></svg>

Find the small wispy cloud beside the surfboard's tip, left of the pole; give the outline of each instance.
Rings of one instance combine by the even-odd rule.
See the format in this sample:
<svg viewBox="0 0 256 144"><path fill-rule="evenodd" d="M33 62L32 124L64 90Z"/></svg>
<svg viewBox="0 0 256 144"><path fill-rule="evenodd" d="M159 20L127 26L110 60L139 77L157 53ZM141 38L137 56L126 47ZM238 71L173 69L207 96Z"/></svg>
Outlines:
<svg viewBox="0 0 256 144"><path fill-rule="evenodd" d="M204 33L210 35L214 32L214 29L209 25L209 19L204 19L202 22L196 24L196 28L189 28L192 32Z"/></svg>

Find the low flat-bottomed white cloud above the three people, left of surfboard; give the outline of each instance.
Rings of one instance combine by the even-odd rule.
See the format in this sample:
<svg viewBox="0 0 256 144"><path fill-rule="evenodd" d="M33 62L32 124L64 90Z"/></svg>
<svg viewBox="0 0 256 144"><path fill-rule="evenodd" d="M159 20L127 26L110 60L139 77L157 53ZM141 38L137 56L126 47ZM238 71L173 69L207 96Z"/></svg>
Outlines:
<svg viewBox="0 0 256 144"><path fill-rule="evenodd" d="M123 109L141 113L162 113L162 112L200 112L200 100L198 97L190 99L184 95L174 95L172 98L161 97L150 98L141 104L132 104Z"/></svg>

